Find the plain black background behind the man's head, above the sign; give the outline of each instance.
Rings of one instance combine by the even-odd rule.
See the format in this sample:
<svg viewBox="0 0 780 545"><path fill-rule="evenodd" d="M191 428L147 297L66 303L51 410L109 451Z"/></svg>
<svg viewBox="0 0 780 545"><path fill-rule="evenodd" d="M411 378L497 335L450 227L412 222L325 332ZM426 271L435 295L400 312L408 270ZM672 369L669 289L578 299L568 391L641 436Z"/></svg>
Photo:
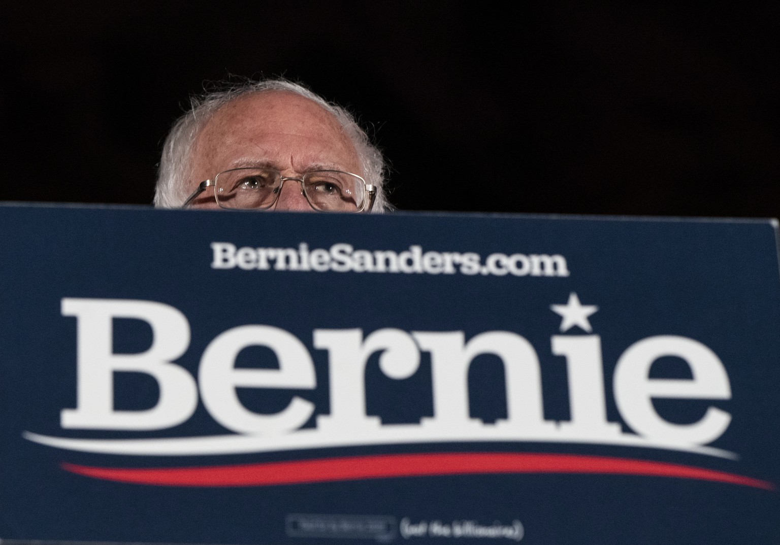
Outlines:
<svg viewBox="0 0 780 545"><path fill-rule="evenodd" d="M15 2L2 200L149 203L207 80L359 112L404 210L780 215L780 5ZM512 11L514 10L514 11Z"/></svg>

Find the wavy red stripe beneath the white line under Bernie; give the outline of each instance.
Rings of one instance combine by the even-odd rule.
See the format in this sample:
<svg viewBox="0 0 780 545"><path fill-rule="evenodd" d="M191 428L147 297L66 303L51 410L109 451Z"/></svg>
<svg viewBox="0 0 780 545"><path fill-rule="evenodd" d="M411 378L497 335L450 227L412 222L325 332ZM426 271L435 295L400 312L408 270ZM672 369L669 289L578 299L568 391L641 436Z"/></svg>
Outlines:
<svg viewBox="0 0 780 545"><path fill-rule="evenodd" d="M500 452L353 456L297 462L183 468L100 468L63 463L96 479L168 487L264 487L280 484L480 473L592 473L708 480L775 490L768 481L691 465L629 458Z"/></svg>

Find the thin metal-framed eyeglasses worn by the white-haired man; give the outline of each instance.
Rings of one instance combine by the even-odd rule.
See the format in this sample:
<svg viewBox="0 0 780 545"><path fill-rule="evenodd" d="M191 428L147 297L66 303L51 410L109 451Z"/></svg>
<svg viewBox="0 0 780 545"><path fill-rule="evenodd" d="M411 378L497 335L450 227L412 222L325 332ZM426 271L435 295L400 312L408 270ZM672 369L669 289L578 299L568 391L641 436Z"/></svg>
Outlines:
<svg viewBox="0 0 780 545"><path fill-rule="evenodd" d="M213 180L198 184L182 207L187 207L207 188L214 187L222 208L264 210L272 207L288 180L300 182L303 196L314 210L324 212L368 212L374 206L377 189L359 175L338 170L314 170L300 178L282 176L273 168L231 168Z"/></svg>

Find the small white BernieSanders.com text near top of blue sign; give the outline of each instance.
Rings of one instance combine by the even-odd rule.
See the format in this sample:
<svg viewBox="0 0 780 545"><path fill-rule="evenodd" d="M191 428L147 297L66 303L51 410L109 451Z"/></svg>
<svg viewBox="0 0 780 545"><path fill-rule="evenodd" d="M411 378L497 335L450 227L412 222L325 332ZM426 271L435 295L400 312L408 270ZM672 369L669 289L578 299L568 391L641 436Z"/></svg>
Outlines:
<svg viewBox="0 0 780 545"><path fill-rule="evenodd" d="M492 276L569 276L566 258L546 253L441 252L409 246L392 249L356 249L339 242L330 248L236 247L231 242L211 242L213 269L244 271L314 271L397 274L482 274Z"/></svg>

